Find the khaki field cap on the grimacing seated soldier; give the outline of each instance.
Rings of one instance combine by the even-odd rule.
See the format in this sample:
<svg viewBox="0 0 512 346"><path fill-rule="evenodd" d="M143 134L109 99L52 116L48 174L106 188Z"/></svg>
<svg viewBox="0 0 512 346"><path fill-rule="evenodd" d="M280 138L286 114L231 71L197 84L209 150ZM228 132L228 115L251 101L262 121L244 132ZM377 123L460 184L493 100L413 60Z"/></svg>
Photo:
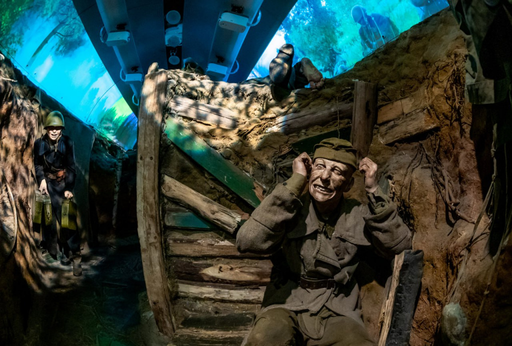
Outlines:
<svg viewBox="0 0 512 346"><path fill-rule="evenodd" d="M355 157L357 150L354 149L352 143L345 139L324 139L319 144L316 144L314 149L313 161L318 158L333 160L357 170L357 159Z"/></svg>

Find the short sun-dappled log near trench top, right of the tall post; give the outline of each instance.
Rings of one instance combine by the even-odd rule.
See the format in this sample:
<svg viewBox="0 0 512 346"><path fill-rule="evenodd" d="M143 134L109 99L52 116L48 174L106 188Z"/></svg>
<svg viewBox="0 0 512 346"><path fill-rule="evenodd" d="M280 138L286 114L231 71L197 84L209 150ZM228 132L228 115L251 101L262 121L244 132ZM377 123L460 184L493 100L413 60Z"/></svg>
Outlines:
<svg viewBox="0 0 512 346"><path fill-rule="evenodd" d="M189 98L175 95L169 103L171 111L181 117L196 119L221 128L237 128L237 114L224 107L201 103Z"/></svg>

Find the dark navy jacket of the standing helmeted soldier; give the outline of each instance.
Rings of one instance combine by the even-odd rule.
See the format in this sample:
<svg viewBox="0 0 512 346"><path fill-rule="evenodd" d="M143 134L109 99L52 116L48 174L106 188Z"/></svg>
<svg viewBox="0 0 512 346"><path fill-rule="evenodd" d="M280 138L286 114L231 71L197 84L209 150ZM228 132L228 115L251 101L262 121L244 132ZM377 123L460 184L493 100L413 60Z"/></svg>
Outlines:
<svg viewBox="0 0 512 346"><path fill-rule="evenodd" d="M34 143L34 166L37 186L46 179L48 193L52 200L52 212L60 223L62 200L65 191L73 191L75 187L76 167L75 148L73 141L62 135L56 145L50 144L48 135L38 138ZM65 179L57 182L54 175L66 169Z"/></svg>

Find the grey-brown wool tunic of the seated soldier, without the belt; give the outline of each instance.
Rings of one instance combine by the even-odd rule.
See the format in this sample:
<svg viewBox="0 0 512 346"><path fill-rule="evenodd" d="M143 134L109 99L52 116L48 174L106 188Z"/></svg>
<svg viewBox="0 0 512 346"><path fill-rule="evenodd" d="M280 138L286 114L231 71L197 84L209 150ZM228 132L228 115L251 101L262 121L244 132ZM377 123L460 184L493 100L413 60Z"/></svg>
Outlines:
<svg viewBox="0 0 512 346"><path fill-rule="evenodd" d="M410 230L380 188L368 194L368 206L344 199L339 210L323 222L309 193L297 197L304 184L305 177L294 174L276 186L240 228L237 247L241 252L282 252L281 261L273 261L276 275L265 291L265 310L282 307L314 314L326 307L362 323L359 287L353 277L358 249L373 246L391 258L411 248ZM303 288L298 284L300 276L334 278L337 285Z"/></svg>

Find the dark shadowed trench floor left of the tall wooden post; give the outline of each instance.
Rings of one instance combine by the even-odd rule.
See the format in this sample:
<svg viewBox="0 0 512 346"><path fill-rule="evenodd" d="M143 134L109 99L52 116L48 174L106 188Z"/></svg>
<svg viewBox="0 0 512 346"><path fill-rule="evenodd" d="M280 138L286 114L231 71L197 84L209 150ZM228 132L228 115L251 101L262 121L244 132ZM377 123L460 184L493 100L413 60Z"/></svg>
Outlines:
<svg viewBox="0 0 512 346"><path fill-rule="evenodd" d="M47 327L39 344L167 344L147 301L137 235L93 248L82 266L76 286L48 293L41 304L38 319Z"/></svg>

